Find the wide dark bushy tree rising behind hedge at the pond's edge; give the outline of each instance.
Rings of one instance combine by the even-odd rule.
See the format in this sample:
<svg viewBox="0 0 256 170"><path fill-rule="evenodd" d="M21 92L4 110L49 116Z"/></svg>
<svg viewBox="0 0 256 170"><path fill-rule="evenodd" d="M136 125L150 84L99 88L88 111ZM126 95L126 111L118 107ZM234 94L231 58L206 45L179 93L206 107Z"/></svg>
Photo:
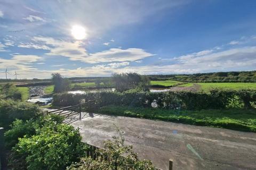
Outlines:
<svg viewBox="0 0 256 170"><path fill-rule="evenodd" d="M138 87L146 89L146 87L150 84L150 81L146 76L142 77L138 73L114 74L113 81L116 84L116 90L121 92Z"/></svg>

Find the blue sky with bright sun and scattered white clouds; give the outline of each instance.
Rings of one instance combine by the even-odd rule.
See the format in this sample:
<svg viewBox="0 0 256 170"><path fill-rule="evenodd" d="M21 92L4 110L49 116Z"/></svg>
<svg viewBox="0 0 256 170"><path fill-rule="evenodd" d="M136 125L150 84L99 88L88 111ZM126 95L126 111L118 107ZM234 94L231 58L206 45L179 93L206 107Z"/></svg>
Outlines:
<svg viewBox="0 0 256 170"><path fill-rule="evenodd" d="M255 9L254 0L1 0L0 72L43 79L256 70Z"/></svg>

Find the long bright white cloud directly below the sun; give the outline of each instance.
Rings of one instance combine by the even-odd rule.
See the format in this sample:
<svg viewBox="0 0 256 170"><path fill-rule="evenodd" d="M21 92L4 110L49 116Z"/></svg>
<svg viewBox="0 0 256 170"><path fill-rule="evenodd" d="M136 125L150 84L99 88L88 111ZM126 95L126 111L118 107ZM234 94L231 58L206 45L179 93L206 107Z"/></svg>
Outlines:
<svg viewBox="0 0 256 170"><path fill-rule="evenodd" d="M110 48L98 53L87 53L82 41L64 41L56 40L50 37L34 37L37 43L44 43L50 47L47 55L60 55L69 57L72 61L82 61L84 63L102 63L102 62L126 62L141 60L154 54L148 53L140 48Z"/></svg>

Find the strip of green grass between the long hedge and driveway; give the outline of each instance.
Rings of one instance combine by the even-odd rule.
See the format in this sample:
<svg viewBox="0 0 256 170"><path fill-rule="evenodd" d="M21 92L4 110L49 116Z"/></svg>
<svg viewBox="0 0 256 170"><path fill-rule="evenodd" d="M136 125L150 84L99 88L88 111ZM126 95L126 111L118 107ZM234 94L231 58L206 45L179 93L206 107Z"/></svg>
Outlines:
<svg viewBox="0 0 256 170"><path fill-rule="evenodd" d="M177 113L172 110L156 108L105 106L99 112L108 115L141 117L152 120L256 132L255 110L202 110L180 111Z"/></svg>

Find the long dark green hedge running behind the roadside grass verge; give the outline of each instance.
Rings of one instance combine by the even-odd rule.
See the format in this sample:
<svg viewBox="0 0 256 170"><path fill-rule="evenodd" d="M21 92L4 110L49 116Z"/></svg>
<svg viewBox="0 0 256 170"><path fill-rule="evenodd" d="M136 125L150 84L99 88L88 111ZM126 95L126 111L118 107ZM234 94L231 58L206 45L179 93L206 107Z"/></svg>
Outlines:
<svg viewBox="0 0 256 170"><path fill-rule="evenodd" d="M164 109L220 109L232 107L255 107L256 90L224 90L212 89L210 92L168 91L168 92L96 92L87 94L55 94L54 106L70 106L94 100L97 107L122 105L135 107L151 107L155 103Z"/></svg>

